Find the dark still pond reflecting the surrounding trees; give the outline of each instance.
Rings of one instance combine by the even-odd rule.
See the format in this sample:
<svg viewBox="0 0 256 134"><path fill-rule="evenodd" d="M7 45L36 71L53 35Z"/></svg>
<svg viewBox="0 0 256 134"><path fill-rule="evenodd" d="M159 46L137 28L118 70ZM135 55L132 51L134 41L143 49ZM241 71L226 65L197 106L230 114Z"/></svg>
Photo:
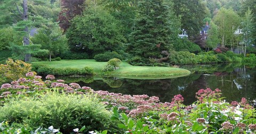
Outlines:
<svg viewBox="0 0 256 134"><path fill-rule="evenodd" d="M241 101L245 97L255 107L256 68L241 64L186 65L189 76L171 79L121 79L117 77L58 77L66 82L77 82L94 90L107 90L127 95L158 96L161 102L171 102L181 94L185 104L196 101L199 89L219 88L227 102Z"/></svg>

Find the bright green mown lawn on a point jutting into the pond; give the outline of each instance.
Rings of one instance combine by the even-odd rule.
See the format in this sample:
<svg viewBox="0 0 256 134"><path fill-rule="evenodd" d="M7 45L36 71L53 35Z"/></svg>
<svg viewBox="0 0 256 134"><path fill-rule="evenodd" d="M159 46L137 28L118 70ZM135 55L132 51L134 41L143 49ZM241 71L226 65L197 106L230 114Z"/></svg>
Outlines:
<svg viewBox="0 0 256 134"><path fill-rule="evenodd" d="M47 65L53 68L84 68L90 66L94 72L103 76L118 76L122 78L140 78L140 79L154 79L154 78L172 78L186 76L190 71L179 68L169 68L161 66L133 66L126 62L122 62L120 68L111 73L102 73L101 70L107 62L96 62L95 60L61 60L52 62L33 62Z"/></svg>

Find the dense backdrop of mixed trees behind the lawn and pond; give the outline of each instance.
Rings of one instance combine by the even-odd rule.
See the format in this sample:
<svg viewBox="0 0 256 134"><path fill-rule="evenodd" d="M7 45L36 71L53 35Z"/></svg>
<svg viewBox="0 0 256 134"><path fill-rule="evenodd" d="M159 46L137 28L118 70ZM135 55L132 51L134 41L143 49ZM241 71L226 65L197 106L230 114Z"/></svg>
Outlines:
<svg viewBox="0 0 256 134"><path fill-rule="evenodd" d="M87 59L117 52L134 65L154 66L168 64L173 51L223 53L217 49L221 46L246 56L256 52L254 5L253 0L4 0L0 52L11 49L12 58L27 61ZM121 59L103 57L97 61ZM140 62L134 60L137 57Z"/></svg>

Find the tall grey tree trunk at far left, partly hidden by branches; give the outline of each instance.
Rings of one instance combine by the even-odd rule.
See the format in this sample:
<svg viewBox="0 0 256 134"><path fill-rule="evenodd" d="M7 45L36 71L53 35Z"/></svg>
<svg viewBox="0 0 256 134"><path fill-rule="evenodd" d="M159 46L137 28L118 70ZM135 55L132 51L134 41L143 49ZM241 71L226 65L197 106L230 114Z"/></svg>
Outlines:
<svg viewBox="0 0 256 134"><path fill-rule="evenodd" d="M22 19L24 21L28 20L28 1L27 0L23 0L23 14L22 14ZM26 26L26 28L24 29L25 32L28 33L28 27ZM29 37L24 36L23 37L23 43L24 45L29 45ZM26 54L25 56L25 62L31 62L31 54Z"/></svg>

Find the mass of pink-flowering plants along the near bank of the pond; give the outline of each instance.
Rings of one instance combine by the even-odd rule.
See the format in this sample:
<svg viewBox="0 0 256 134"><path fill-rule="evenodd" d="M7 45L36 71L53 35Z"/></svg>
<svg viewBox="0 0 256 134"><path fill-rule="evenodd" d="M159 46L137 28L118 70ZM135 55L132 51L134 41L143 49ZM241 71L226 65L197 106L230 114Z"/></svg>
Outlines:
<svg viewBox="0 0 256 134"><path fill-rule="evenodd" d="M14 96L38 97L45 92L57 90L59 93L72 96L95 96L107 110L113 110L111 119L117 121L119 133L253 133L256 131L255 108L247 103L246 98L242 98L241 102L233 101L230 104L223 101L220 89L200 89L195 94L197 101L186 106L183 104L186 98L181 95L175 95L170 99L171 102L162 103L156 96L131 96L102 90L94 91L77 83L68 85L63 80L42 81L39 76L28 74L31 75L1 86L0 99L3 105ZM81 125L86 126L86 124Z"/></svg>

